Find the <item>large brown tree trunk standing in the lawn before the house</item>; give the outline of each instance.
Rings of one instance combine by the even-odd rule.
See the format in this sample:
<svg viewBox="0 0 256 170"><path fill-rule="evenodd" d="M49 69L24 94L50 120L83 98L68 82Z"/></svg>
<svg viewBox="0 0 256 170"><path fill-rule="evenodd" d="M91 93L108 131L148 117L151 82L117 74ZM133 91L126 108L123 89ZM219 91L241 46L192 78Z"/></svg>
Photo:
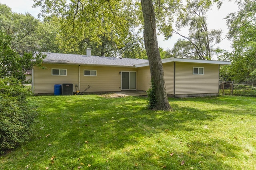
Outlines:
<svg viewBox="0 0 256 170"><path fill-rule="evenodd" d="M144 43L150 65L152 86L156 90L157 110L170 110L170 104L164 84L164 69L156 37L156 17L152 0L141 0L144 17Z"/></svg>

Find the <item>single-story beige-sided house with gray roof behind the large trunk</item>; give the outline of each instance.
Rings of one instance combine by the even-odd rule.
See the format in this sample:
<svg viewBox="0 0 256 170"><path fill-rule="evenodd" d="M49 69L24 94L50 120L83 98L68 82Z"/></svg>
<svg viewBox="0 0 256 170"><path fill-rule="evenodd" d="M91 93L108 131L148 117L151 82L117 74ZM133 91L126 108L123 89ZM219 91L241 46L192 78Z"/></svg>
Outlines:
<svg viewBox="0 0 256 170"><path fill-rule="evenodd" d="M34 66L32 87L35 94L53 94L56 84L73 84L73 92L146 91L151 87L148 60L43 53L42 65ZM169 97L216 96L219 92L219 66L226 61L168 58L162 60Z"/></svg>

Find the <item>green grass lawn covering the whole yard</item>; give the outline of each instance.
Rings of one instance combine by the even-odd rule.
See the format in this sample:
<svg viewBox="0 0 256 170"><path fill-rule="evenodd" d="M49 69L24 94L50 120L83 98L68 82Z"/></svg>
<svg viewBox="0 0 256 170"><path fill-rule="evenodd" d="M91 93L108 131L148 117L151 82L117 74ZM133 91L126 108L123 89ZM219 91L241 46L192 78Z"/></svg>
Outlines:
<svg viewBox="0 0 256 170"><path fill-rule="evenodd" d="M0 169L256 169L256 98L169 99L173 111L148 110L143 97L31 99L36 133Z"/></svg>

